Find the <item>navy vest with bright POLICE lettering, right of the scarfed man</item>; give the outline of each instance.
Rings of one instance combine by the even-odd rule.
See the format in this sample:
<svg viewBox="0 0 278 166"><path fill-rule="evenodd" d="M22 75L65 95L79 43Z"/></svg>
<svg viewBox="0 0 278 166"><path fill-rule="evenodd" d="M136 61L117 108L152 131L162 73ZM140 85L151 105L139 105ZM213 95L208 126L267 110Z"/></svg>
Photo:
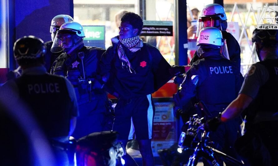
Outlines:
<svg viewBox="0 0 278 166"><path fill-rule="evenodd" d="M197 87L197 99L207 105L228 105L236 98L236 76L238 71L230 60L212 60L202 62L206 68L206 79ZM211 110L214 111L214 110Z"/></svg>

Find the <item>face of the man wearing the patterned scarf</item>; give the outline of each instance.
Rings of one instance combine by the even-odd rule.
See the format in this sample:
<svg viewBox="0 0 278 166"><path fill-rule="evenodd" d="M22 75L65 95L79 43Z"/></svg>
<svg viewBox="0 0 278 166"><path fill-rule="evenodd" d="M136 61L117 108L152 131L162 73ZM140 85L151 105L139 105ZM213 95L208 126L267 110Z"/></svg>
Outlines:
<svg viewBox="0 0 278 166"><path fill-rule="evenodd" d="M133 29L129 22L121 22L119 30L120 39L132 38L138 33L138 29Z"/></svg>

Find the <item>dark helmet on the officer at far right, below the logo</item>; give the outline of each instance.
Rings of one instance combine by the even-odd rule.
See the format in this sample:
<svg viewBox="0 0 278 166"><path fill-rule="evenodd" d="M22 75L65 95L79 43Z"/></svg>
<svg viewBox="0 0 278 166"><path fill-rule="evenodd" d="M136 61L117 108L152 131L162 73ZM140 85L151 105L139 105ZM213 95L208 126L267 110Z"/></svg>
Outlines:
<svg viewBox="0 0 278 166"><path fill-rule="evenodd" d="M252 42L256 43L256 52L261 61L260 52L263 48L276 48L278 43L277 29L255 29Z"/></svg>

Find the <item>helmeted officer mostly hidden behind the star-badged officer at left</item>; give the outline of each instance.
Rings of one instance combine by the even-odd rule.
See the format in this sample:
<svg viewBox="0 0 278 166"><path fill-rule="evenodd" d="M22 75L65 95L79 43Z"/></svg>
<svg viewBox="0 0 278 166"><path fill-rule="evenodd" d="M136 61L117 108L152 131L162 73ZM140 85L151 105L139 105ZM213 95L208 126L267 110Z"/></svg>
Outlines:
<svg viewBox="0 0 278 166"><path fill-rule="evenodd" d="M50 67L52 66L53 62L56 58L63 53L63 50L59 50L56 52L51 52L50 49L52 47L53 41L55 39L56 33L61 27L63 23L73 21L73 18L69 15L60 14L52 18L51 25L50 25L50 33L51 33L51 40L45 42L44 44L47 46L47 51L45 54L45 67L48 72L50 72Z"/></svg>

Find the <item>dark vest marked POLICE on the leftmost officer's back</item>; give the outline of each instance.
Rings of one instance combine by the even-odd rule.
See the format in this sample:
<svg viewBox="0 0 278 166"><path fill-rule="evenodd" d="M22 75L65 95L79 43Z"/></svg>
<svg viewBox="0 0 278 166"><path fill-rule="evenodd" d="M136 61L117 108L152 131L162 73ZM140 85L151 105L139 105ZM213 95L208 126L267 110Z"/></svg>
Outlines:
<svg viewBox="0 0 278 166"><path fill-rule="evenodd" d="M15 79L19 97L27 103L48 138L69 133L71 99L62 77L22 75Z"/></svg>

